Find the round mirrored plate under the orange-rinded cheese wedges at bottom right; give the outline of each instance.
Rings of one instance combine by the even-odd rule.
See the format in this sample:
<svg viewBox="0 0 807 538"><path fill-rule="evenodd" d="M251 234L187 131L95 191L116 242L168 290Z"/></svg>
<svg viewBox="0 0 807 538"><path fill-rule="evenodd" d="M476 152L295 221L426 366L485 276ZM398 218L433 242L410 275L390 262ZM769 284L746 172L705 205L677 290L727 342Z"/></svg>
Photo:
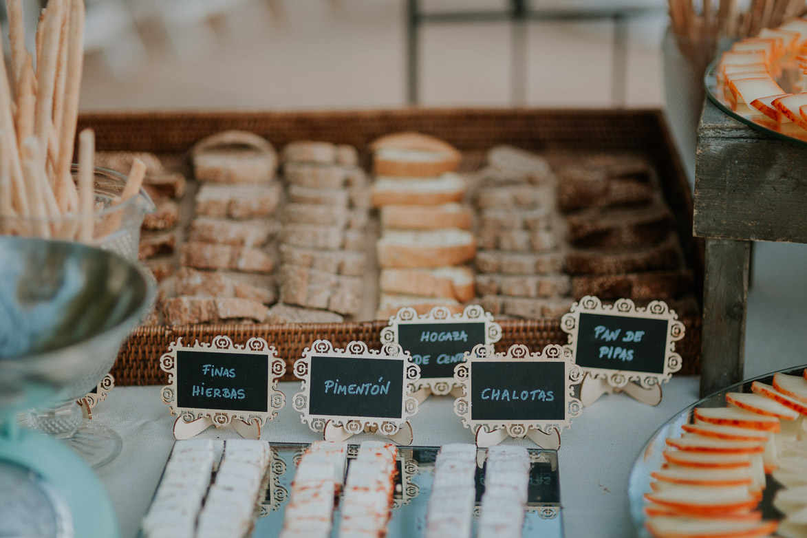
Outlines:
<svg viewBox="0 0 807 538"><path fill-rule="evenodd" d="M788 368L780 370L781 373L791 373L793 375L801 375L807 365L797 366L796 368ZM650 492L650 473L655 470L661 469L664 462L662 453L667 448L665 440L667 437L680 437L683 433L682 426L692 422L692 410L696 407L725 407L725 393L727 392L751 392L751 383L755 381L771 384L773 374L776 372L765 373L759 377L748 379L744 382L726 387L720 392L716 392L702 398L691 406L677 413L671 419L667 420L662 427L650 437L642 452L633 462L633 469L630 471L630 480L628 482L628 497L630 503L630 519L633 521L633 528L636 531L636 536L642 538L650 538L650 533L645 528L645 498L644 494ZM778 483L773 481L770 475L767 476L767 486L765 488L763 499L760 503L764 519L778 519L779 513L772 505L771 500L773 493L778 487Z"/></svg>

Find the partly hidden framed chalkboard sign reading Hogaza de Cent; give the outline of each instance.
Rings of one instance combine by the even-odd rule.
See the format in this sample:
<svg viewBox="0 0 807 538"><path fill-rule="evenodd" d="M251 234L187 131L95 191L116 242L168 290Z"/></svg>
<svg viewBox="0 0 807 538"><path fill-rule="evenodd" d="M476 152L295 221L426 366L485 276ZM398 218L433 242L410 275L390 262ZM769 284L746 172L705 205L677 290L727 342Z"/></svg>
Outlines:
<svg viewBox="0 0 807 538"><path fill-rule="evenodd" d="M448 394L454 388L454 367L477 344L495 344L501 327L493 316L478 305L452 315L445 307L435 307L427 315L402 308L381 332L383 344L399 344L420 366L415 389L429 387L434 394Z"/></svg>

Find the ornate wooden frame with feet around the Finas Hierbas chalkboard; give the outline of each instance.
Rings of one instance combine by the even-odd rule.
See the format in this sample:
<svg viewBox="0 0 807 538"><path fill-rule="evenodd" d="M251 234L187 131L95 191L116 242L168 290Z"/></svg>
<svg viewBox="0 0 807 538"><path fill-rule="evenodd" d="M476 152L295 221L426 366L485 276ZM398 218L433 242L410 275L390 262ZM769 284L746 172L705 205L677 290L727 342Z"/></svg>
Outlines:
<svg viewBox="0 0 807 538"><path fill-rule="evenodd" d="M229 411L219 409L203 409L200 407L179 407L177 403L177 352L178 351L222 351L228 353L243 353L245 355L255 355L257 353L266 354L269 358L269 379L266 380L268 387L266 390L266 409L268 411ZM207 427L231 426L241 436L260 438L261 427L274 419L278 411L286 405L286 395L278 390L278 380L286 373L286 363L278 357L278 351L274 346L266 343L262 338L250 338L246 344L233 344L228 336L215 336L210 344L199 343L193 346L182 345L182 338L172 342L169 352L160 357L160 368L168 372L168 385L161 390L162 401L170 407L171 415L177 416L174 423L174 436L177 439L187 439ZM238 422L240 421L240 423ZM184 423L184 424L183 424ZM194 423L193 426L187 427Z"/></svg>

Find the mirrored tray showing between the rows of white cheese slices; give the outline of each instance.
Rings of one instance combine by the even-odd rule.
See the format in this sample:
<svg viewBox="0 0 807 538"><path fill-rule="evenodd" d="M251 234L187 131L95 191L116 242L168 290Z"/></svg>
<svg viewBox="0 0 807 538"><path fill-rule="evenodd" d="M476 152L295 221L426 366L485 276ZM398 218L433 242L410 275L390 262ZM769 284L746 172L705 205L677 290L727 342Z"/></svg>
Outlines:
<svg viewBox="0 0 807 538"><path fill-rule="evenodd" d="M272 460L270 478L255 521L253 538L274 538L280 534L283 515L289 502L291 482L294 480L296 465L307 444L270 444ZM434 461L439 447L399 447L397 477L392 506L392 515L387 524L387 538L417 538L425 530L426 509L429 505L434 478ZM358 445L348 445L348 466L356 456ZM483 461L485 451L479 450L479 461ZM562 538L560 510L560 475L558 473L558 453L554 450L529 449L530 473L527 513L522 536ZM485 467L476 471L475 516L479 515L485 483ZM340 499L341 503L341 499ZM332 536L337 537L339 506L334 511ZM476 524L474 524L476 532Z"/></svg>

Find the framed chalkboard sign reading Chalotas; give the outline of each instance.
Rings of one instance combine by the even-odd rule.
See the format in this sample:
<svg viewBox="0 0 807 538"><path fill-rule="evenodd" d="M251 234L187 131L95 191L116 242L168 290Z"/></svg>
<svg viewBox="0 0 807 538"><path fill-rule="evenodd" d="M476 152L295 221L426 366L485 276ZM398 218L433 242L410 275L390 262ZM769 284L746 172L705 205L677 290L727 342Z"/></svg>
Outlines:
<svg viewBox="0 0 807 538"><path fill-rule="evenodd" d="M505 428L513 437L523 437L529 429L546 433L554 427L560 432L579 414L571 386L582 373L571 353L558 345L548 345L541 353L530 353L521 344L507 353L478 345L466 353L454 377L463 392L454 401L454 412L472 429Z"/></svg>

